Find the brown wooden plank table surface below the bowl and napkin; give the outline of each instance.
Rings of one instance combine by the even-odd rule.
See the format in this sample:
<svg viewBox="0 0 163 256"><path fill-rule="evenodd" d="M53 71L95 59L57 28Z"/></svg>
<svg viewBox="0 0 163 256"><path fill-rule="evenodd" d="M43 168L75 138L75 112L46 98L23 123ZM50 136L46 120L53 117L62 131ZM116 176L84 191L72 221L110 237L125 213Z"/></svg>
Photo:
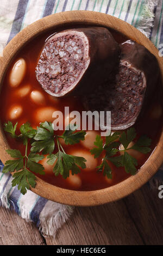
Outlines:
<svg viewBox="0 0 163 256"><path fill-rule="evenodd" d="M118 202L77 207L55 239L0 208L0 245L162 245L163 199L146 184Z"/></svg>

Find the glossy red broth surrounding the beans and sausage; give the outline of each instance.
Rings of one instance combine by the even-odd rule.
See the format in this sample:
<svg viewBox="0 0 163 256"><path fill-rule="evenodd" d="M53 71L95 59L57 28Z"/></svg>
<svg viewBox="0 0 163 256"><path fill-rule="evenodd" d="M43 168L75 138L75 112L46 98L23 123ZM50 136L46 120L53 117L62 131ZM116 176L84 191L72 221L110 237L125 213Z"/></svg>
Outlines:
<svg viewBox="0 0 163 256"><path fill-rule="evenodd" d="M15 59L13 60L12 64L10 65L10 68L7 71L7 74L4 77L2 91L1 91L1 102L0 102L0 115L1 115L1 123L4 124L9 120L9 111L12 106L14 105L20 105L23 109L22 114L20 117L14 120L14 124L18 122L17 131L18 128L27 121L33 126L39 126L39 120L36 120L36 113L38 109L42 107L51 107L55 110L62 111L64 113L64 107L69 106L70 112L75 110L82 113L84 109L83 103L81 100L81 97L66 97L65 99L58 99L54 100L51 96L49 96L40 86L40 84L37 82L35 77L35 67L37 64L37 61L39 59L42 46L45 43L45 40L50 36L52 32L47 32L45 34L42 34L39 36L39 38L35 38L32 41L30 41L26 46L22 48L22 50L17 54ZM126 40L126 38L117 33L112 32L114 38L118 42L123 42ZM24 58L26 60L27 64L27 71L26 76L24 77L23 81L21 82L20 86L16 88L12 88L9 84L9 74L12 69L12 66L16 62L17 59ZM23 88L24 86L30 86L29 93L24 96L20 97L18 95L18 90ZM45 101L42 102L42 105L39 105L37 103L34 103L30 98L30 93L33 90L37 90L40 93L43 94ZM159 136L160 136L160 127L162 126L161 120L162 117L154 118L152 117L152 111L154 111L154 108L156 108L161 103L160 99L160 93L156 92L155 96L153 97L153 101L151 102L151 107L149 107L148 113L143 114L143 117L135 124L135 129L137 132L137 137L141 135L147 135L152 139L152 145L151 148L154 150L156 147L156 144L158 142ZM157 113L157 108L155 110L155 113ZM62 131L57 131L56 134L60 135ZM15 139L11 138L8 134L6 134L8 143L10 145L10 148L12 149L19 149L22 154L24 154L25 148L22 143L15 141ZM81 143L75 144L75 145L66 145L64 146L64 150L67 154L71 154L71 152L80 150L80 151L86 151L89 152L89 149L86 149L83 147ZM30 151L30 149L29 149ZM56 151L54 151L56 152ZM147 161L151 153L146 155L139 155L138 160L138 167L139 170L140 167ZM99 157L97 159L97 165L101 164L102 157ZM92 160L96 161L96 160ZM81 170L81 172L78 174L80 179L82 180L82 186L79 188L79 190L82 191L89 191L89 190L99 190L102 188L106 188L112 185L117 184L118 182L121 182L125 179L127 179L130 174L127 174L124 170L124 168L117 168L115 167L111 162L109 163L111 169L112 169L112 180L106 179L106 177L103 176L103 173L97 173L96 169L93 169L91 171ZM47 172L45 169L45 175L38 175L41 179L49 182L50 184L62 187L62 188L68 188L71 190L76 190L75 186L72 186L69 184L69 182L62 178L61 175L55 176L53 172Z"/></svg>

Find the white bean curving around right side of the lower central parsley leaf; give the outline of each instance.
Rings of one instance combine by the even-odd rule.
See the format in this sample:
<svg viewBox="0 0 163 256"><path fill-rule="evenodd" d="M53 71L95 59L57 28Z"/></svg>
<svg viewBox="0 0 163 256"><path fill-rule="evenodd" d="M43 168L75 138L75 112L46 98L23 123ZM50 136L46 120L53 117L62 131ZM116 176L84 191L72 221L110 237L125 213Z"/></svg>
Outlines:
<svg viewBox="0 0 163 256"><path fill-rule="evenodd" d="M93 155L91 155L91 153L89 151L86 150L77 150L77 151L72 151L71 155L73 156L82 156L86 159L86 168L83 169L85 171L89 171L89 170L95 170L97 167L97 159L95 159L93 157Z"/></svg>

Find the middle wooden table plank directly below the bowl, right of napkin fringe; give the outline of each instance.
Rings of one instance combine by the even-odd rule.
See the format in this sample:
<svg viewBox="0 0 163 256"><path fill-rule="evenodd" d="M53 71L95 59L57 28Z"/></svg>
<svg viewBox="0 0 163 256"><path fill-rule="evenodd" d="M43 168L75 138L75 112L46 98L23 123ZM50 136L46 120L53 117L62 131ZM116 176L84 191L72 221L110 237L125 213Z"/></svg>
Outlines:
<svg viewBox="0 0 163 256"><path fill-rule="evenodd" d="M132 234L132 235L131 235ZM47 245L143 245L123 201L77 208L71 220Z"/></svg>

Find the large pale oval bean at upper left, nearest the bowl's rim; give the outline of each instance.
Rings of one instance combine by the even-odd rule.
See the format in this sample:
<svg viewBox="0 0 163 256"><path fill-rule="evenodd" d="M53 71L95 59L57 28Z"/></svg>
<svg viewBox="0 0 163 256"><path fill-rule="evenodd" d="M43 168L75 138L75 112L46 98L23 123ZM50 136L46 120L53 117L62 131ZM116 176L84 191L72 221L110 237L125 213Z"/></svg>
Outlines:
<svg viewBox="0 0 163 256"><path fill-rule="evenodd" d="M23 58L17 60L14 64L10 75L9 82L11 87L17 87L22 82L24 75L26 73L26 61Z"/></svg>

